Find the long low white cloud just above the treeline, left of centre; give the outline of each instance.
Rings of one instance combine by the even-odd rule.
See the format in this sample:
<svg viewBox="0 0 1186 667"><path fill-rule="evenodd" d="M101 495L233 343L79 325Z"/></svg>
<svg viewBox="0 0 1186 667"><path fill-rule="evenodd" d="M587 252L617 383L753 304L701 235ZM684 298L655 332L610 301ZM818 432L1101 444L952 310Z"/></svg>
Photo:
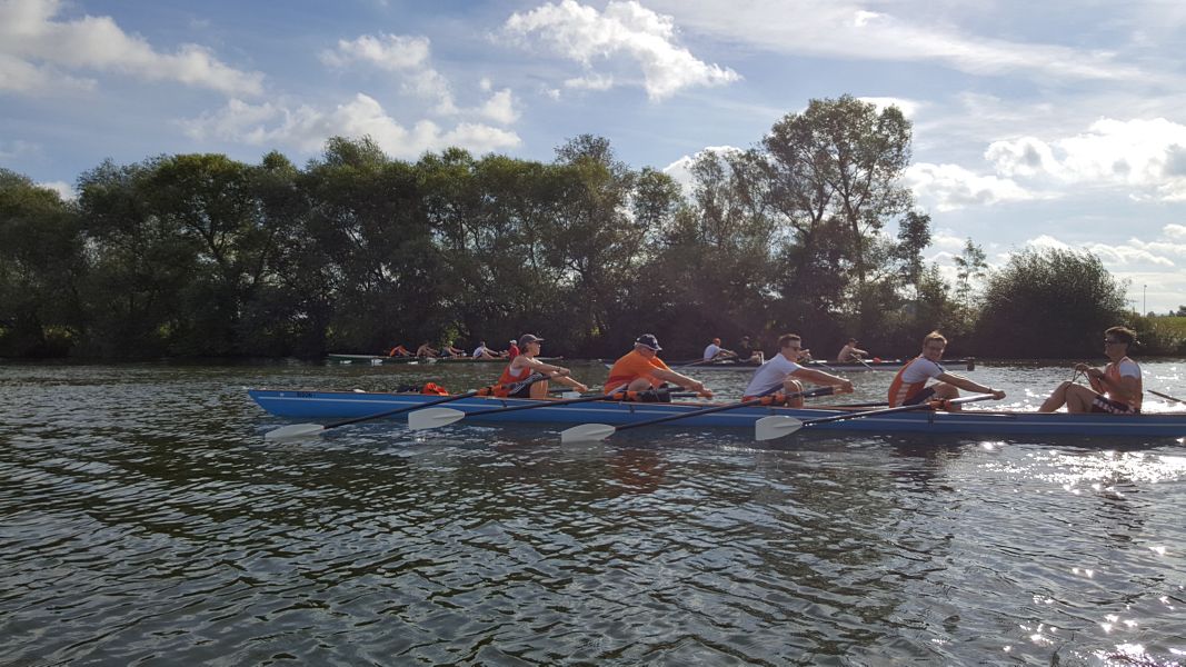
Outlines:
<svg viewBox="0 0 1186 667"><path fill-rule="evenodd" d="M193 139L291 146L305 153L319 151L331 136L369 135L384 152L401 159L415 159L427 151L451 146L480 154L522 142L514 132L482 123L463 122L442 129L435 122L421 120L409 129L389 116L375 99L361 93L332 110L231 100L218 113L181 125Z"/></svg>

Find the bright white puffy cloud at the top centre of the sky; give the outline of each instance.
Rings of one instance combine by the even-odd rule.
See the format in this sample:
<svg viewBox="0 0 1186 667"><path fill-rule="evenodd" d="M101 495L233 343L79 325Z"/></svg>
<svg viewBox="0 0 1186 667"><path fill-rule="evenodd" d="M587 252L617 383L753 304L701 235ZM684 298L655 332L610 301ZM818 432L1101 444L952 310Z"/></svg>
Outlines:
<svg viewBox="0 0 1186 667"><path fill-rule="evenodd" d="M704 63L675 44L671 17L657 14L633 0L611 0L604 12L574 0L548 2L527 13L511 14L503 30L521 42L535 38L540 46L580 63L588 72L588 81L605 76L594 71L594 62L613 66L625 59L642 70L643 85L653 101L684 88L722 85L741 78L735 71Z"/></svg>

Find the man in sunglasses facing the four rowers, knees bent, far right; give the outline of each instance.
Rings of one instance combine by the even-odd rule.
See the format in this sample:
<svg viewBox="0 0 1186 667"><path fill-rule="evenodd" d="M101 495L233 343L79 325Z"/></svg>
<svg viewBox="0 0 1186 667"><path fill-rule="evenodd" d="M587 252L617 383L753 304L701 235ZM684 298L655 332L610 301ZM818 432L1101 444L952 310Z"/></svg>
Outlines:
<svg viewBox="0 0 1186 667"><path fill-rule="evenodd" d="M1076 373L1088 376L1091 387L1063 382L1051 393L1038 412L1054 412L1066 405L1066 412L1099 412L1105 414L1136 414L1141 412L1141 367L1128 358L1128 348L1136 342L1136 331L1112 326L1104 331L1104 354L1108 366L1092 368L1075 364Z"/></svg>

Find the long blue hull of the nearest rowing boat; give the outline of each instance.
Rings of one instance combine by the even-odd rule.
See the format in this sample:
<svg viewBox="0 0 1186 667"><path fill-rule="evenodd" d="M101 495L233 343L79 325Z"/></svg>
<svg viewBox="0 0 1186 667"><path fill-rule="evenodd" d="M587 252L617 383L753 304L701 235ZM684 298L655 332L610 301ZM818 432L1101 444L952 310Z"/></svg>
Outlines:
<svg viewBox="0 0 1186 667"><path fill-rule="evenodd" d="M368 392L291 392L251 389L251 399L267 412L293 419L344 419L366 417L402 407L414 407L440 396ZM527 399L472 398L452 401L448 407L476 412L498 407L538 404ZM672 414L693 412L710 404L637 404L594 401L567 406L487 414L474 420L502 424L633 424ZM745 428L752 433L758 419L771 415L801 420L836 417L857 408L744 407L672 421L672 426ZM952 433L987 436L1107 436L1180 438L1186 436L1186 413L1038 414L1033 412L964 411L962 413L912 411L811 426L816 431L872 433Z"/></svg>

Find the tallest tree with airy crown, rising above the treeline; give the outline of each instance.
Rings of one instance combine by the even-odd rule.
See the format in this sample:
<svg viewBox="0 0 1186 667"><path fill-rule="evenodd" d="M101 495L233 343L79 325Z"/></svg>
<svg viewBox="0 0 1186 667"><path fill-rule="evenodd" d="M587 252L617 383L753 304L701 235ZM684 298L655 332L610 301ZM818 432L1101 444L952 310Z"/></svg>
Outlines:
<svg viewBox="0 0 1186 667"><path fill-rule="evenodd" d="M897 107L878 112L850 95L812 100L774 125L763 141L770 155L766 197L798 246L784 254L795 262L786 272L793 277L788 299L795 300L798 286L839 287L839 294L816 294L824 299L816 309L833 301L855 312L862 330L875 328L892 293L876 282L898 279L886 262L901 256L879 233L911 210L911 192L901 185L910 142L910 121ZM907 244L919 237L920 222L908 221Z"/></svg>

